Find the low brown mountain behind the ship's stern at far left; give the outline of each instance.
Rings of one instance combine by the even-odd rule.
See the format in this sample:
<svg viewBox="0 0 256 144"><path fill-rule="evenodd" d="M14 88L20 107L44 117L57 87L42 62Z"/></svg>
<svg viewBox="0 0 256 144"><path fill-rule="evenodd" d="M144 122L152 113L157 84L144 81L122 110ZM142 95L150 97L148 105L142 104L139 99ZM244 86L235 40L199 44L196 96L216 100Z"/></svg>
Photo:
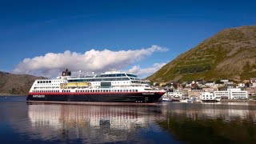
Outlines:
<svg viewBox="0 0 256 144"><path fill-rule="evenodd" d="M0 71L0 94L26 95L30 91L34 80L42 78L28 74L10 74Z"/></svg>

